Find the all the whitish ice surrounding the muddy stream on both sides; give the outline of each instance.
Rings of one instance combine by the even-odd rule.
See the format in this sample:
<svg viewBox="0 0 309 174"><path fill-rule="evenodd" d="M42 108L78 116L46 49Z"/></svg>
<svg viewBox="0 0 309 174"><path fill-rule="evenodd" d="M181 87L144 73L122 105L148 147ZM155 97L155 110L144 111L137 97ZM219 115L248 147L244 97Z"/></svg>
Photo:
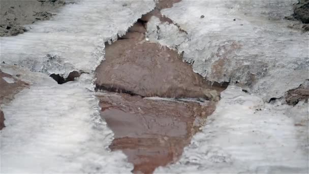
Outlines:
<svg viewBox="0 0 309 174"><path fill-rule="evenodd" d="M154 3L103 2L67 5L53 19L28 25L29 32L1 38L1 62L10 64L1 69L31 85L1 106L7 126L1 131L2 173L132 170L125 155L106 149L113 134L88 89L104 41L125 34ZM184 51L194 71L210 80L238 81L254 94L230 86L180 161L156 172L308 172L308 104L264 102L308 79L307 33L282 20L293 2L182 1L162 10L188 35L160 24L152 33L161 32L159 43ZM62 85L48 77L73 70L90 74Z"/></svg>

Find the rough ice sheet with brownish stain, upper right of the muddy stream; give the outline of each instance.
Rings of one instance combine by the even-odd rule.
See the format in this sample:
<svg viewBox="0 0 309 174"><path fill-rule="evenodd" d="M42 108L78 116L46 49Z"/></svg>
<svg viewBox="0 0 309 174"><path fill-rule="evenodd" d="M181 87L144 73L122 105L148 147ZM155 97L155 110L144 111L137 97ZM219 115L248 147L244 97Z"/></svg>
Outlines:
<svg viewBox="0 0 309 174"><path fill-rule="evenodd" d="M165 23L158 25L157 40L171 47L180 43L184 61L210 81L238 82L264 101L280 98L309 78L308 33L289 28L295 21L284 19L295 2L181 1L161 13L189 39L175 40L175 34L183 38L183 33ZM151 25L158 23L151 20Z"/></svg>

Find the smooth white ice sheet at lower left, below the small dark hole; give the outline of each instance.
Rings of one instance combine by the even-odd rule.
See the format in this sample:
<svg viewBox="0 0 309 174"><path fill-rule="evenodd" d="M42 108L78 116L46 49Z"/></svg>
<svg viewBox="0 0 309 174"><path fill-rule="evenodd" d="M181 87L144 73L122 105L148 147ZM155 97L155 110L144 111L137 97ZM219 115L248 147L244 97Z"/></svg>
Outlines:
<svg viewBox="0 0 309 174"><path fill-rule="evenodd" d="M17 66L6 65L2 70L23 72L20 78L32 85L2 106L6 128L1 131L1 173L128 173L133 169L126 155L108 149L113 132L101 120L99 101L80 84L82 80L60 85L47 75L27 78L44 74Z"/></svg>

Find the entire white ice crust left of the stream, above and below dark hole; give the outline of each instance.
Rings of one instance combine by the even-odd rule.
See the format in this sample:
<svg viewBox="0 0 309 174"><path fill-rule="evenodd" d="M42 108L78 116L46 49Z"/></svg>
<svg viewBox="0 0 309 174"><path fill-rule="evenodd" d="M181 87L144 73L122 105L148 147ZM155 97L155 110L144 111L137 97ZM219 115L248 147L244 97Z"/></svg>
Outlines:
<svg viewBox="0 0 309 174"><path fill-rule="evenodd" d="M30 84L1 106L1 173L131 172L126 155L108 149L113 132L100 117L94 70L104 42L153 8L153 1L76 1L24 34L1 38L1 70ZM61 85L48 76L74 70L83 74Z"/></svg>

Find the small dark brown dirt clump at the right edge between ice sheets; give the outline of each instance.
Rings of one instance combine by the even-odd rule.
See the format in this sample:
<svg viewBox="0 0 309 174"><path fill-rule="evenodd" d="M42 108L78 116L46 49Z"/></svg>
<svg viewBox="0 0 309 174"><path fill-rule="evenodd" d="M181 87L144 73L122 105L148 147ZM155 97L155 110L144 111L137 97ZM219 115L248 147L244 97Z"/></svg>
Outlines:
<svg viewBox="0 0 309 174"><path fill-rule="evenodd" d="M296 105L299 101L306 100L309 98L309 80L300 84L298 88L289 90L285 96L286 102L289 105Z"/></svg>

